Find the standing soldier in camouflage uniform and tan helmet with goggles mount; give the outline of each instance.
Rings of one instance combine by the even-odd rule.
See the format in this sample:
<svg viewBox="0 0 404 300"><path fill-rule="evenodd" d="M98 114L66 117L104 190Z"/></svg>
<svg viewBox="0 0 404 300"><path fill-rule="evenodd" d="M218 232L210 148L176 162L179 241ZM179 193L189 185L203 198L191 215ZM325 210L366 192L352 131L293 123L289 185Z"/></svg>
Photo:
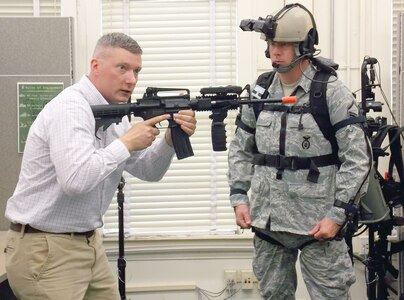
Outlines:
<svg viewBox="0 0 404 300"><path fill-rule="evenodd" d="M367 189L372 162L355 100L335 76L327 79L329 120L344 124L337 126L333 159L331 143L310 112L318 69L313 65L318 38L311 13L291 4L265 20L243 20L240 27L263 33L276 70L269 88L256 84L253 95L294 94L298 99L288 109L266 105L258 115L243 107L229 149L231 205L237 224L255 232L253 270L262 295L295 299L300 249L311 298L349 299L355 274L345 241L334 238L346 223L349 201Z"/></svg>

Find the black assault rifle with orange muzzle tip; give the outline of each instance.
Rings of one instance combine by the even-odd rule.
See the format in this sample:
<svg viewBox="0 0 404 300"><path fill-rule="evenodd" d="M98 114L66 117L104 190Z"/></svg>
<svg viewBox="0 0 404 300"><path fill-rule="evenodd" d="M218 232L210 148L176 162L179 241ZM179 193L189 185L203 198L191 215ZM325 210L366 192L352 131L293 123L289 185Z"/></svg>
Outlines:
<svg viewBox="0 0 404 300"><path fill-rule="evenodd" d="M246 90L249 97L241 97ZM225 151L226 129L223 123L229 110L235 110L242 105L259 105L265 103L291 104L296 102L296 97L253 99L250 87L244 89L240 86L209 87L202 88L201 96L191 99L189 89L177 88L156 88L148 87L143 98L137 99L134 103L128 104L106 104L93 105L96 121L96 132L100 127L106 130L111 124L122 121L124 116L134 115L143 120L170 114L168 127L171 128L171 137L174 144L175 153L178 159L183 159L194 155L189 136L175 122L173 115L180 110L192 109L193 111L211 111L209 116L212 119L211 135L214 151ZM161 95L166 94L166 95ZM168 95L167 95L168 94ZM175 94L175 95L173 95Z"/></svg>

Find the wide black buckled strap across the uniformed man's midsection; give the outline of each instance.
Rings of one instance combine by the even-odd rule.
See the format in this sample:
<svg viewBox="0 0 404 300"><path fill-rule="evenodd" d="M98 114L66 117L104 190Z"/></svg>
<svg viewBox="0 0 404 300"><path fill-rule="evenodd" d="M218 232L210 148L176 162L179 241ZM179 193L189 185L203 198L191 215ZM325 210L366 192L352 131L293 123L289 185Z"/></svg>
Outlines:
<svg viewBox="0 0 404 300"><path fill-rule="evenodd" d="M255 154L252 160L254 165L274 167L278 170L301 170L308 169L309 174L307 180L317 183L320 171L318 167L325 167L330 165L340 165L338 157L334 154L313 156L313 157L297 157L297 156L284 156L272 154Z"/></svg>

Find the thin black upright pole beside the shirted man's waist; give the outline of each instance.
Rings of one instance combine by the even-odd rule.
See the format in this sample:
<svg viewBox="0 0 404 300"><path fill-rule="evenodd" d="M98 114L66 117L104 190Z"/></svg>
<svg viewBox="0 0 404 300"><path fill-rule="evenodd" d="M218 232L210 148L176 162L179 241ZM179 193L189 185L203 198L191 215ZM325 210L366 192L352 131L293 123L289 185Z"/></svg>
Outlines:
<svg viewBox="0 0 404 300"><path fill-rule="evenodd" d="M126 300L126 279L125 279L125 268L126 268L126 260L125 260L125 229L123 222L123 203L125 202L125 195L123 192L123 188L125 186L125 178L121 177L121 181L118 185L118 194L117 194L117 202L118 202L118 222L119 222L119 256L118 256L118 284L119 284L119 295L121 296L121 300Z"/></svg>

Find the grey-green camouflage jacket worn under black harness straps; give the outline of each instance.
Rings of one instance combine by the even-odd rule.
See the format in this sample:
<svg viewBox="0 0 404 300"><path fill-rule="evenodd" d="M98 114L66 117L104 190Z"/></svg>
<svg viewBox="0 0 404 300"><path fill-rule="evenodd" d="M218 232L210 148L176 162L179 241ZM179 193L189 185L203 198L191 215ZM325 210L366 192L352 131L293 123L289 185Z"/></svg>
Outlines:
<svg viewBox="0 0 404 300"><path fill-rule="evenodd" d="M305 74L313 78L314 67L310 66ZM327 105L331 124L358 115L358 107L348 88L333 76L329 81ZM302 76L297 85L296 105L309 105L310 86L311 81ZM268 91L270 97L283 96L278 74ZM271 231L307 235L325 217L343 224L345 211L335 207L334 201L353 199L368 174L370 153L364 131L358 124L338 130L336 139L342 164L339 170L335 165L318 168L318 183L307 180L308 170L285 169L282 179L277 179L276 168L253 166L250 162L255 144L260 153L279 154L282 114L263 110L256 120L253 109L243 107L241 120L255 128L256 133L254 136L242 129L236 131L229 149L228 181L231 188L251 190L251 193L250 198L248 195L232 195L231 205L249 205L252 226L269 229L270 220ZM303 127L299 128L299 124ZM286 126L286 156L312 157L332 152L331 144L311 114L288 114ZM367 190L367 183L362 190Z"/></svg>

